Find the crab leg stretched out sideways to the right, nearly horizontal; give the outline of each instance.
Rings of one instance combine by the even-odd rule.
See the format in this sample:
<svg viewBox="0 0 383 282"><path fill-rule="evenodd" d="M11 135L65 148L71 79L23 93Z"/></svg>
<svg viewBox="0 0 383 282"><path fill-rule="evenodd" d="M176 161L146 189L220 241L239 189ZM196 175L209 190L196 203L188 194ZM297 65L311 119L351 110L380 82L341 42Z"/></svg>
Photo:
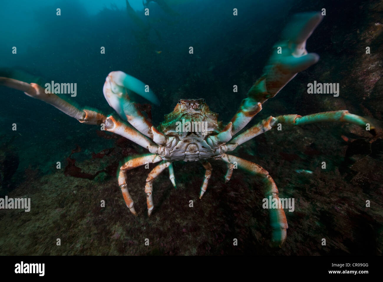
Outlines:
<svg viewBox="0 0 383 282"><path fill-rule="evenodd" d="M272 128L278 126L278 124L289 124L289 125L304 125L311 124L314 122L326 122L326 121L340 121L340 122L349 122L352 124L365 127L368 123L368 120L360 117L359 115L350 114L348 110L336 110L332 112L320 112L317 114L311 115L280 115L278 117L268 117L265 120L262 120L259 124L254 125L250 129L242 132L236 138L230 141L230 144L235 145L235 147L229 147L228 151L234 150L238 145L254 138L255 136L262 134ZM371 126L370 129L375 127Z"/></svg>

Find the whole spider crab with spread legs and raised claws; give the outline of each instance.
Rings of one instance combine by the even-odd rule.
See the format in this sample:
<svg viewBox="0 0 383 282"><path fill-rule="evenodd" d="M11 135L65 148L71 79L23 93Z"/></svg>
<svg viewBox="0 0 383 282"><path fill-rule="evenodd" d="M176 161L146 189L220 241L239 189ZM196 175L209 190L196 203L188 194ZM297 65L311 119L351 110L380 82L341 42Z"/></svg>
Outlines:
<svg viewBox="0 0 383 282"><path fill-rule="evenodd" d="M200 198L206 192L212 172L208 159L213 159L227 163L226 181L230 180L235 165L253 175L264 177L265 197L271 196L279 201L277 186L264 168L256 163L229 155L227 152L255 136L277 127L278 124L304 125L314 122L340 121L364 127L367 123L363 117L350 114L347 110L321 112L306 116L297 114L270 116L233 138L262 109L262 104L267 99L274 97L298 72L307 69L319 60L317 54L306 51L306 40L321 20L320 13L303 13L294 16L290 25L282 33L282 40L275 45L275 52L265 66L263 75L250 88L239 110L225 126L222 122L218 122L218 114L209 110L204 99L181 99L173 112L165 115L165 121L160 124L158 129L155 128L137 109L135 103L130 101L127 90L134 91L151 102L157 103L157 98L153 92L147 91L148 89L144 91L144 83L122 71L112 71L108 74L103 93L109 105L134 128L113 115L106 117L96 111L77 109L54 93L44 91L43 87L35 83L29 84L11 78L0 78L0 85L24 91L26 95L51 104L84 124L104 126L105 130L126 137L147 148L150 154L131 158L119 170L118 185L126 206L134 215L137 214L129 195L126 172L147 163L157 162L160 164L151 170L145 185L149 216L154 208L152 183L165 168L169 168L170 180L175 186L172 167L174 161L200 161L202 163L206 172ZM282 47L281 54L277 52L278 46ZM180 130L177 125L183 119L197 124L196 130ZM205 125L205 130L200 125ZM286 239L286 229L288 228L283 208L270 209L270 221L273 228L273 241L282 244Z"/></svg>

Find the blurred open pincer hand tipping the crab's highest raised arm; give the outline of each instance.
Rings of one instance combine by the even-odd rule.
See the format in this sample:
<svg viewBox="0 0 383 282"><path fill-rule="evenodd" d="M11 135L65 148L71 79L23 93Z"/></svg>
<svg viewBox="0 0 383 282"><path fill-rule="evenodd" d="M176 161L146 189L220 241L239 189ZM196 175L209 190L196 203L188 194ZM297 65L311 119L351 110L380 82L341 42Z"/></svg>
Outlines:
<svg viewBox="0 0 383 282"><path fill-rule="evenodd" d="M306 40L322 18L320 12L300 13L283 30L282 40L274 45L264 69L267 98L275 96L298 72L318 62L318 54L307 53Z"/></svg>

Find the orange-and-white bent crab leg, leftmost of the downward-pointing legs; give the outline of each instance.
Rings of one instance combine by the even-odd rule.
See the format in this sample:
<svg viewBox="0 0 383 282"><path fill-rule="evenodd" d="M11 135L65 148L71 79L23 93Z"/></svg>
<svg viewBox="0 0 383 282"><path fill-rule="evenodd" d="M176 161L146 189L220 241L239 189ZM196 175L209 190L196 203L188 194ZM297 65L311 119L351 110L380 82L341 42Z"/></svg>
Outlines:
<svg viewBox="0 0 383 282"><path fill-rule="evenodd" d="M139 167L141 165L145 165L147 163L157 163L160 160L162 159L159 156L154 154L143 155L141 157L137 157L137 158L133 158L129 160L120 168L120 172L118 174L118 185L121 188L121 192L124 197L126 206L129 208L131 213L133 213L135 216L137 216L137 213L133 206L134 202L131 196L129 195L128 185L126 184L126 172L128 170Z"/></svg>

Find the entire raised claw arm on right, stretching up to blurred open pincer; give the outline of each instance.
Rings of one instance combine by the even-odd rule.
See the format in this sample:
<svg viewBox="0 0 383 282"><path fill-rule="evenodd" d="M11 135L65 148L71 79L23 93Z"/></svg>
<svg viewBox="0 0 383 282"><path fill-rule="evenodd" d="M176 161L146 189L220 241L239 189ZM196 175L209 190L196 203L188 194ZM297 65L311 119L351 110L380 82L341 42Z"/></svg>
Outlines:
<svg viewBox="0 0 383 282"><path fill-rule="evenodd" d="M232 118L232 135L252 120L267 99L274 97L297 73L319 60L318 54L308 53L306 40L321 22L321 13L301 13L293 16L282 33L282 39L273 47L273 53L263 75L247 92L247 98ZM281 53L282 52L282 53Z"/></svg>

